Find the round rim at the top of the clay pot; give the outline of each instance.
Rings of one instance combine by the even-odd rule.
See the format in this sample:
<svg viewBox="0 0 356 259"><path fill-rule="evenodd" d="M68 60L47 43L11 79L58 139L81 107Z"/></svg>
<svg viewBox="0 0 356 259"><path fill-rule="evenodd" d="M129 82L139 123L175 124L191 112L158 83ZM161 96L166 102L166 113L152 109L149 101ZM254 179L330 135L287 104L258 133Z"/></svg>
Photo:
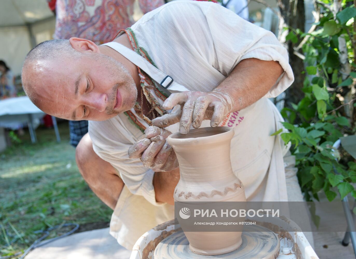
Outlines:
<svg viewBox="0 0 356 259"><path fill-rule="evenodd" d="M209 132L219 130L221 132L205 137L190 137L191 133L199 133L199 132ZM198 144L198 143L214 143L219 141L231 140L234 136L235 131L230 127L204 127L204 128L195 128L190 129L187 135L180 134L179 132L173 133L167 137L167 141L171 145L187 145L189 142ZM187 137L188 136L188 137ZM183 137L183 138L179 138Z"/></svg>

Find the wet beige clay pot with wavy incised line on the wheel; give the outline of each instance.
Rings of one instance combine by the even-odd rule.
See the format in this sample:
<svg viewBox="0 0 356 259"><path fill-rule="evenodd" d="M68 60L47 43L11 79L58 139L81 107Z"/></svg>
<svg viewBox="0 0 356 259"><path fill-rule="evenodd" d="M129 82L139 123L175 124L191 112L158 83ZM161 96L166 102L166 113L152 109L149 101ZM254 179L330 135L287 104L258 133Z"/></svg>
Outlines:
<svg viewBox="0 0 356 259"><path fill-rule="evenodd" d="M246 201L245 189L232 171L229 127L192 129L167 138L177 154L180 180L174 190L178 202ZM179 221L179 219L178 219ZM184 231L184 229L183 229ZM187 232L192 252L217 255L241 245L241 232Z"/></svg>

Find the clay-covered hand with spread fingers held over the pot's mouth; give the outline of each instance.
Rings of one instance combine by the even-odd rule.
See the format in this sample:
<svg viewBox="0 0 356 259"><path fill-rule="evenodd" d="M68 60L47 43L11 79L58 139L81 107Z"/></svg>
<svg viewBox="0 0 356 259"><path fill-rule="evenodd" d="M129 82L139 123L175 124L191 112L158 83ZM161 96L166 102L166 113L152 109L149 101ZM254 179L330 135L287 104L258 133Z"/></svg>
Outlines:
<svg viewBox="0 0 356 259"><path fill-rule="evenodd" d="M163 104L164 109L172 112L152 120L152 125L167 127L180 121L179 132L187 134L190 125L199 128L203 120L211 120L210 126L216 127L231 112L234 100L224 91L215 89L209 93L185 91L171 94Z"/></svg>

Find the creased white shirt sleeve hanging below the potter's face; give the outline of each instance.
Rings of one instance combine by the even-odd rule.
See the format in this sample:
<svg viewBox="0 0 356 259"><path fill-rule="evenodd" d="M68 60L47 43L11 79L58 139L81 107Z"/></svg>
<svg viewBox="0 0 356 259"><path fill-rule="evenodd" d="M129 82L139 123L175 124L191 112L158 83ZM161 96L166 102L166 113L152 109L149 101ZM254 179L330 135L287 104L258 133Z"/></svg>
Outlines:
<svg viewBox="0 0 356 259"><path fill-rule="evenodd" d="M137 138L124 126L119 116L107 121L90 121L89 136L94 152L117 170L132 194L142 195L153 205L164 205L156 201L152 183L155 172L147 170L139 159L129 159L127 150Z"/></svg>

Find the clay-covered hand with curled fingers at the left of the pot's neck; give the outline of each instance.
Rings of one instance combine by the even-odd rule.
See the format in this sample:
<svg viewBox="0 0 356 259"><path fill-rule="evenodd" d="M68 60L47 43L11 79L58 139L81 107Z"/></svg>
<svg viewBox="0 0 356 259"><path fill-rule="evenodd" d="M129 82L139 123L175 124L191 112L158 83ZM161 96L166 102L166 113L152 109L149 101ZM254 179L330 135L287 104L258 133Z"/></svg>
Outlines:
<svg viewBox="0 0 356 259"><path fill-rule="evenodd" d="M129 148L129 158L140 158L145 167L155 172L171 171L178 167L176 153L166 138L172 132L156 126L145 130L145 138Z"/></svg>

